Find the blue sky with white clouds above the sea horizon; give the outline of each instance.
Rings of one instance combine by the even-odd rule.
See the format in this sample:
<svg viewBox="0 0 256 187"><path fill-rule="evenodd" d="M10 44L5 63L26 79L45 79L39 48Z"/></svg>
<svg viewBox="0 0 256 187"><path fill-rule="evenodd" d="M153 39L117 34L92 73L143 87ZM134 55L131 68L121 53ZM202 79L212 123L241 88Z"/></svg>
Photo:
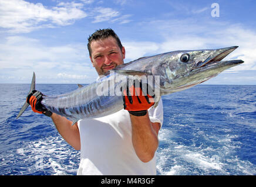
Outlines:
<svg viewBox="0 0 256 187"><path fill-rule="evenodd" d="M0 83L89 84L87 38L112 28L124 63L168 51L239 46L244 64L203 84L256 85L256 2L0 0Z"/></svg>

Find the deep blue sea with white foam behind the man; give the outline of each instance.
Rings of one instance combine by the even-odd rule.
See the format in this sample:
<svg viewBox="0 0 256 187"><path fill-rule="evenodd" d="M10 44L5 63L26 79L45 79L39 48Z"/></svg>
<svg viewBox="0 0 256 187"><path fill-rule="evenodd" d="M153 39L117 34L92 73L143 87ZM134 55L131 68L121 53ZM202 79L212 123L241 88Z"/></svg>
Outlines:
<svg viewBox="0 0 256 187"><path fill-rule="evenodd" d="M80 153L29 108L29 84L0 84L0 175L76 175ZM75 84L38 84L45 95ZM163 96L157 175L255 175L256 86L197 85Z"/></svg>

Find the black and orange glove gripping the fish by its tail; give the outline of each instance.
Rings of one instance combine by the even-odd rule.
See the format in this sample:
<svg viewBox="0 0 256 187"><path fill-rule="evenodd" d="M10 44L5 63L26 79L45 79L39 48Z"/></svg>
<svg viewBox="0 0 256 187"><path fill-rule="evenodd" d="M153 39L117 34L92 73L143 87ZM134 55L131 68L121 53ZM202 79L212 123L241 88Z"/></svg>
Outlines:
<svg viewBox="0 0 256 187"><path fill-rule="evenodd" d="M52 116L52 112L50 112L50 110L43 108L43 105L41 103L42 101L42 96L43 93L36 91L35 89L33 91L31 91L27 98L26 98L26 102L29 103L29 105L31 105L31 108L33 110L33 112L36 113L42 113L48 117Z"/></svg>

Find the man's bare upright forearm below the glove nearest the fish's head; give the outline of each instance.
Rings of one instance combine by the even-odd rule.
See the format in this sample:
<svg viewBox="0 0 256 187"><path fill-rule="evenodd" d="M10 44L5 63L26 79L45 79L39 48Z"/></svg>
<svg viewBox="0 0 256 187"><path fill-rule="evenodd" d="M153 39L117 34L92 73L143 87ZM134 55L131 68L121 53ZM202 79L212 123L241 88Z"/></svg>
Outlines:
<svg viewBox="0 0 256 187"><path fill-rule="evenodd" d="M149 162L157 150L160 123L150 122L148 113L145 116L130 115L132 122L132 142L137 156L143 162Z"/></svg>

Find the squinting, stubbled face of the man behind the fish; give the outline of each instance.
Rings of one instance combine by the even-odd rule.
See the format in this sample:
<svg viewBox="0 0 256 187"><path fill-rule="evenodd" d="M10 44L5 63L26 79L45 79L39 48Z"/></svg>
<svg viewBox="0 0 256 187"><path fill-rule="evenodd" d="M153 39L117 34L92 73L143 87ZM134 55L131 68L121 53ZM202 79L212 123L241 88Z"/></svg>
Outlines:
<svg viewBox="0 0 256 187"><path fill-rule="evenodd" d="M121 50L116 39L112 36L103 40L92 41L90 47L92 49L90 60L99 75L104 75L117 65L123 64L125 58L124 47Z"/></svg>

